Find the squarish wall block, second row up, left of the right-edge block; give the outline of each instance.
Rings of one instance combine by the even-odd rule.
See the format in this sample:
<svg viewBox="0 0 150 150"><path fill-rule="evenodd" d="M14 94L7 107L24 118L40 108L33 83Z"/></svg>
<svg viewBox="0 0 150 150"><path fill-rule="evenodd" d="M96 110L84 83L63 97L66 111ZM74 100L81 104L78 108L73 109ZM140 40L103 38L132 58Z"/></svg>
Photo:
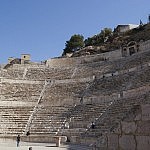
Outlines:
<svg viewBox="0 0 150 150"><path fill-rule="evenodd" d="M122 122L122 131L125 134L135 133L137 126L135 122Z"/></svg>

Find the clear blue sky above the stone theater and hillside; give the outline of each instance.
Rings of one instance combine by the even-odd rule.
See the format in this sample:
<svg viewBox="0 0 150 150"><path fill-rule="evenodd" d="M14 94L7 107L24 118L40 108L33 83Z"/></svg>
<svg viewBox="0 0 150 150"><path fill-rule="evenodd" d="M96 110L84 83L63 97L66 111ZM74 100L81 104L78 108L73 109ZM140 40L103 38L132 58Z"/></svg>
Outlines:
<svg viewBox="0 0 150 150"><path fill-rule="evenodd" d="M73 34L146 23L149 14L149 0L0 0L0 63L21 54L58 57Z"/></svg>

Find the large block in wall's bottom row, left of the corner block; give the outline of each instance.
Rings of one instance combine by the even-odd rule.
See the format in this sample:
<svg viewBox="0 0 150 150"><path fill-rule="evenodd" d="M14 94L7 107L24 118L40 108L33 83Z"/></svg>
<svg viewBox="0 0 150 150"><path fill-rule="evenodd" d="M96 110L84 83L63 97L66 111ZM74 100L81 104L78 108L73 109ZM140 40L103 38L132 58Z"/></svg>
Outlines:
<svg viewBox="0 0 150 150"><path fill-rule="evenodd" d="M136 143L135 143L134 136L122 135L119 138L119 147L121 150L135 150Z"/></svg>

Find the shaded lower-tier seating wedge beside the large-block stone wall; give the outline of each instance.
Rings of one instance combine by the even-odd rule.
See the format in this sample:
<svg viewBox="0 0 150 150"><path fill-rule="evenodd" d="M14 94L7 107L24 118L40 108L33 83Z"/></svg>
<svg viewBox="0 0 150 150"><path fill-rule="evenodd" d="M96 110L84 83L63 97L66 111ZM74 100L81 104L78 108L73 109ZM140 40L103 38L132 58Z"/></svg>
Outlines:
<svg viewBox="0 0 150 150"><path fill-rule="evenodd" d="M93 143L100 142L99 140L103 140L103 135L114 132L121 121L130 117L131 112L136 113L140 104L149 104L149 98L150 93L147 92L143 95L137 94L136 97L115 101L107 108L105 113L103 113L103 115L95 121L95 128L88 129L85 133L83 133L80 136L79 141L84 144L92 144L90 140L90 142L88 142L88 139L92 138Z"/></svg>

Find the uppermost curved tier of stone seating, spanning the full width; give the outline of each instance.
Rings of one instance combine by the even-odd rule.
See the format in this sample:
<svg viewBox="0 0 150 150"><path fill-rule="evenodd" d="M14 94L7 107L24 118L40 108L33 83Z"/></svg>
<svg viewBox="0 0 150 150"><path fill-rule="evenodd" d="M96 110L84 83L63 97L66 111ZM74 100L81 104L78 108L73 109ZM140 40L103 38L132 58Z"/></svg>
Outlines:
<svg viewBox="0 0 150 150"><path fill-rule="evenodd" d="M140 66L150 61L150 51L137 53L132 57L126 57L114 61L90 62L81 64L73 68L48 68L48 67L28 67L0 69L0 77L10 79L27 79L27 80L45 80L45 79L70 79L84 78L88 76L101 76L106 73L113 73L119 70L129 69L131 67Z"/></svg>

